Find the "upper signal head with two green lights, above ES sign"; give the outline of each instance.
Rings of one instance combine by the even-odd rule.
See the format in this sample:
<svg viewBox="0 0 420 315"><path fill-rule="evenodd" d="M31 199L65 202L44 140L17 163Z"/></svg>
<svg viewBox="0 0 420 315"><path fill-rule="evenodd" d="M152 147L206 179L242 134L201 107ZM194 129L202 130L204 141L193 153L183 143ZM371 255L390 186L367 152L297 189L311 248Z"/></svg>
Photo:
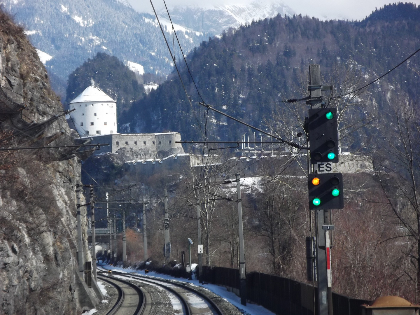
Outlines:
<svg viewBox="0 0 420 315"><path fill-rule="evenodd" d="M307 120L311 163L339 161L336 108L311 108Z"/></svg>

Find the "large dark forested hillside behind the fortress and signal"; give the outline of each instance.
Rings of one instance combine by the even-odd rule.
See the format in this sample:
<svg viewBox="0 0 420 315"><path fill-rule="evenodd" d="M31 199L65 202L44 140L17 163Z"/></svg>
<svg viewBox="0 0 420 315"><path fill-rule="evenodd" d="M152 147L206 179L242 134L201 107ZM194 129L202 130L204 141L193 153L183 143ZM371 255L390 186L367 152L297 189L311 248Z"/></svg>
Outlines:
<svg viewBox="0 0 420 315"><path fill-rule="evenodd" d="M218 109L267 128L272 113L285 108L282 100L307 93L309 64L320 64L324 84L334 84L333 93L338 95L361 87L407 58L420 47L419 10L408 3L388 5L361 22L276 16L224 32L220 39L202 42L187 57L202 99L183 60L178 60L186 91L173 72L157 91L132 106L124 118L124 123L129 123L126 131L171 130L181 132L184 139L198 140L206 124L207 135L215 139L241 139L247 128L211 111L206 123L207 110L203 111L198 102L224 105ZM418 65L415 56L373 85L365 93L368 101L379 108L385 106L387 95L383 91L388 84L415 98L420 92ZM300 108L307 108L300 104Z"/></svg>

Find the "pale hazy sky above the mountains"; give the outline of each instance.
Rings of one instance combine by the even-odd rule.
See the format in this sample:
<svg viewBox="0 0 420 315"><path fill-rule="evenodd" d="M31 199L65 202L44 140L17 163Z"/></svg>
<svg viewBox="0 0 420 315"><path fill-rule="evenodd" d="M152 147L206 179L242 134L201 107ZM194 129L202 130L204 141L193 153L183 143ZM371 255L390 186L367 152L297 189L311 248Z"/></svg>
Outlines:
<svg viewBox="0 0 420 315"><path fill-rule="evenodd" d="M140 12L151 12L152 7L149 0L128 0L134 9ZM165 0L168 7L175 5L197 5L210 7L219 4L245 4L252 0ZM254 0L255 1L255 0ZM262 3L283 2L297 14L315 16L320 19L348 19L362 20L375 10L375 7L382 7L391 1L385 0L258 0ZM155 8L163 6L163 0L152 0ZM394 0L395 2L395 0ZM405 2L405 1L404 1Z"/></svg>

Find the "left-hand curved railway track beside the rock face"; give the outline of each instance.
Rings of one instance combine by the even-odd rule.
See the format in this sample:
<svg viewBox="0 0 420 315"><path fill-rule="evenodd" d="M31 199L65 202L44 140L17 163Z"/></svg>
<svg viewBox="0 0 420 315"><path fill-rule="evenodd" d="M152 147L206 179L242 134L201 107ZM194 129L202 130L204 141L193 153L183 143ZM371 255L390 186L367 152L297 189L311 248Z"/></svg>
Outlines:
<svg viewBox="0 0 420 315"><path fill-rule="evenodd" d="M104 274L98 273L97 278L114 286L118 291L117 301L106 315L142 315L145 299L143 291L139 287L128 281Z"/></svg>

